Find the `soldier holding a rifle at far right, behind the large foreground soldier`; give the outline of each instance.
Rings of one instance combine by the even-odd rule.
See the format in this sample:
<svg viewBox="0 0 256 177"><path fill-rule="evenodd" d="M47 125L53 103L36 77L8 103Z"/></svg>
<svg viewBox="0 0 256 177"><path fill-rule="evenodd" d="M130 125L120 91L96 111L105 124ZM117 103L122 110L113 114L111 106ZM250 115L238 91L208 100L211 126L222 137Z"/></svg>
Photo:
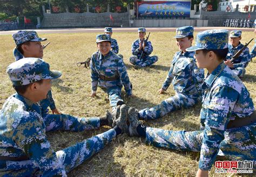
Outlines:
<svg viewBox="0 0 256 177"><path fill-rule="evenodd" d="M245 75L245 67L251 61L251 55L248 47L246 47L240 56L233 60L233 63L230 62L230 59L237 53L244 45L240 43L242 31L234 30L230 32L231 44L228 44L228 53L225 60L225 64L230 67L231 70L238 77L243 77Z"/></svg>

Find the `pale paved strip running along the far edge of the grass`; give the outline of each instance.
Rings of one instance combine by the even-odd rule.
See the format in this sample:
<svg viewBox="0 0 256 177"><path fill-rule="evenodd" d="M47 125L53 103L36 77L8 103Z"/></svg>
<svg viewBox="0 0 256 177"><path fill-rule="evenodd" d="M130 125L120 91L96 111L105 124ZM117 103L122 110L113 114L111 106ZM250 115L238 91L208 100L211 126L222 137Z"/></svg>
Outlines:
<svg viewBox="0 0 256 177"><path fill-rule="evenodd" d="M147 27L147 32L168 32L176 31L176 28L154 28ZM229 27L194 27L195 31L204 31L210 29L227 29L227 30L242 30L242 31L254 31L252 28L229 28ZM42 33L86 33L86 32L103 32L104 28L70 28L70 29L32 29L37 31L39 34ZM113 32L137 32L138 28L113 28ZM0 35L11 35L14 31L0 31Z"/></svg>

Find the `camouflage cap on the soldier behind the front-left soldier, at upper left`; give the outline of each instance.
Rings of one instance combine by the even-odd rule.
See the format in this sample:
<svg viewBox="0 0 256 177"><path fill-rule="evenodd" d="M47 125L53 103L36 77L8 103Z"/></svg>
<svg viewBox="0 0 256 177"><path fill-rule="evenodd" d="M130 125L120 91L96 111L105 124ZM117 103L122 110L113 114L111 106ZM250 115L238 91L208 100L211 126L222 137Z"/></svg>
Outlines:
<svg viewBox="0 0 256 177"><path fill-rule="evenodd" d="M12 34L12 38L14 38L16 45L29 42L29 41L41 42L41 41L47 40L46 38L38 37L36 31L18 31Z"/></svg>

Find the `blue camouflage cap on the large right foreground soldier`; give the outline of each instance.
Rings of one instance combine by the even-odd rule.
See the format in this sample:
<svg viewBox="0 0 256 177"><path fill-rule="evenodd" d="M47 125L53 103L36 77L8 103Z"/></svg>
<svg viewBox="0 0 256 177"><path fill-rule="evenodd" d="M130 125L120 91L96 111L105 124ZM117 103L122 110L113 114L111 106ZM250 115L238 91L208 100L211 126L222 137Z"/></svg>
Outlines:
<svg viewBox="0 0 256 177"><path fill-rule="evenodd" d="M228 30L206 30L197 34L196 45L188 47L186 51L226 49L227 45Z"/></svg>

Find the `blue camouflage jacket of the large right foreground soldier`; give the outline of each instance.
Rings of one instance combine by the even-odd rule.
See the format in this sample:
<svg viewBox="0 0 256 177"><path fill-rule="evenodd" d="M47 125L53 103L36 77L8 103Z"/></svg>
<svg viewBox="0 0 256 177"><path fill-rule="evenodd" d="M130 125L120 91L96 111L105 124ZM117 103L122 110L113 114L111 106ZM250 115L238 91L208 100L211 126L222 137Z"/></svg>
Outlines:
<svg viewBox="0 0 256 177"><path fill-rule="evenodd" d="M228 122L250 115L254 111L254 105L245 85L224 63L208 74L202 88L204 95L200 118L205 129L199 168L210 170L218 154L220 142L224 140L224 135L228 135ZM240 149L245 150L245 147Z"/></svg>

